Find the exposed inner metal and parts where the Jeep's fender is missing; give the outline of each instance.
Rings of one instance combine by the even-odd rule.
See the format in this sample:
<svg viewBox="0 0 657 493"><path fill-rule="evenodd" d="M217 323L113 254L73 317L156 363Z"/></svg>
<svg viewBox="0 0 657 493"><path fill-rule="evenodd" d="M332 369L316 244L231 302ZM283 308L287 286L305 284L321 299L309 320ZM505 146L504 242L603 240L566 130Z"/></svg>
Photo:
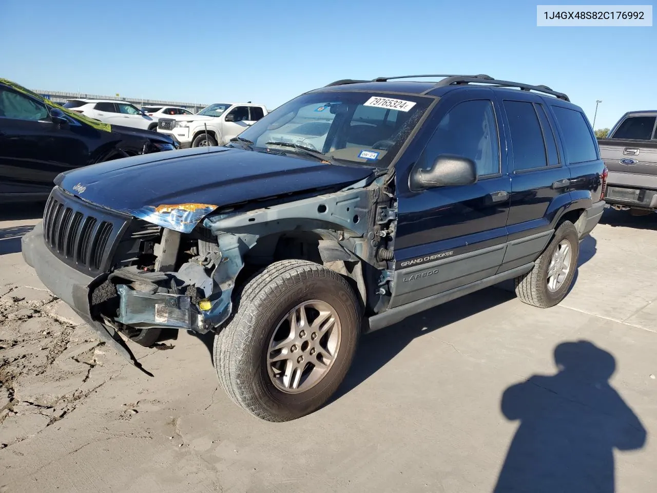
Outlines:
<svg viewBox="0 0 657 493"><path fill-rule="evenodd" d="M185 227L179 219L171 227L156 225L175 211L153 218L151 210L148 221L132 220L116 247L110 272L91 292L92 315L145 345L163 330L219 331L233 313L235 289L286 259L341 273L365 312L385 310L396 200L381 181L363 185L283 204L280 198L247 202Z"/></svg>

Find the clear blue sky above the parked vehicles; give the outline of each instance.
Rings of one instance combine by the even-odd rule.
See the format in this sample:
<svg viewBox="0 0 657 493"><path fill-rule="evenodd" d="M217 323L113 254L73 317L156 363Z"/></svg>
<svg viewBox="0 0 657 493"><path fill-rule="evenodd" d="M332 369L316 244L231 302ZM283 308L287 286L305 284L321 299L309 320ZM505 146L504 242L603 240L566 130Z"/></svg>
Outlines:
<svg viewBox="0 0 657 493"><path fill-rule="evenodd" d="M0 76L274 108L342 78L483 73L563 91L591 121L601 99L596 128L657 109L657 27L538 28L536 3L0 0Z"/></svg>

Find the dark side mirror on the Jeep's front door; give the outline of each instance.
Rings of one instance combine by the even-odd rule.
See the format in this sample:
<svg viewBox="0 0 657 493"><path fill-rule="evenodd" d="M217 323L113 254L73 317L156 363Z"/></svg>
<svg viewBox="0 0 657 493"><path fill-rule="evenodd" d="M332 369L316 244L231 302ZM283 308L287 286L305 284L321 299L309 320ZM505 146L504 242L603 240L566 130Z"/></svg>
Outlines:
<svg viewBox="0 0 657 493"><path fill-rule="evenodd" d="M436 187L472 185L477 182L474 161L455 154L440 154L431 168L415 168L411 172L411 190L419 191Z"/></svg>

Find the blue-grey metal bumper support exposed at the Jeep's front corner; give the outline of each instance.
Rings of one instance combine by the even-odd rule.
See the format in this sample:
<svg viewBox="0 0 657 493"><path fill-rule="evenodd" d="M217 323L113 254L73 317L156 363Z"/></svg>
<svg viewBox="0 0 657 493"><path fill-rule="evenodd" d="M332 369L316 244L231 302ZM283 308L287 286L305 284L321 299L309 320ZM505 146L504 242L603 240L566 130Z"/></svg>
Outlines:
<svg viewBox="0 0 657 493"><path fill-rule="evenodd" d="M183 294L145 293L125 284L116 286L119 293L119 315L116 321L136 329L170 327L192 329L198 325L198 313L191 298ZM196 318L196 320L194 320Z"/></svg>

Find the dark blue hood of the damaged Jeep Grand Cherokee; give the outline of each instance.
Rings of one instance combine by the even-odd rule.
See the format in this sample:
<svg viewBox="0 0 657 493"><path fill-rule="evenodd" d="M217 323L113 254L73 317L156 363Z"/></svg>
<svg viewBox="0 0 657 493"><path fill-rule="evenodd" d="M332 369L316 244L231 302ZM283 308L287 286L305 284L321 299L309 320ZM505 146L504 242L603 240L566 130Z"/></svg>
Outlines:
<svg viewBox="0 0 657 493"><path fill-rule="evenodd" d="M196 147L101 162L60 174L69 193L189 233L216 208L312 189L337 191L376 168L242 149Z"/></svg>

